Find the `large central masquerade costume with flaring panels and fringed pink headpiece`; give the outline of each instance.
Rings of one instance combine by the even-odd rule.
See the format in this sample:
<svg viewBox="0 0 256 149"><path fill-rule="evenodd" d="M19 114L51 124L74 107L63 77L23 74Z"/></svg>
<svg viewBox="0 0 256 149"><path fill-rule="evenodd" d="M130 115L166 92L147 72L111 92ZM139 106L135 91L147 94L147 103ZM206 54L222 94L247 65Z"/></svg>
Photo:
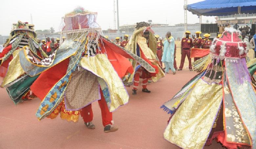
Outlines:
<svg viewBox="0 0 256 149"><path fill-rule="evenodd" d="M129 96L120 78L133 73L127 58L153 68L104 38L96 13L77 8L63 21L62 34L67 39L53 52L56 56L47 65L28 61L29 47L19 52L23 70L31 77L40 74L30 87L42 100L36 112L38 120L55 118L60 113L62 119L76 122L81 109L96 100L101 100L103 112L113 112L126 104Z"/></svg>

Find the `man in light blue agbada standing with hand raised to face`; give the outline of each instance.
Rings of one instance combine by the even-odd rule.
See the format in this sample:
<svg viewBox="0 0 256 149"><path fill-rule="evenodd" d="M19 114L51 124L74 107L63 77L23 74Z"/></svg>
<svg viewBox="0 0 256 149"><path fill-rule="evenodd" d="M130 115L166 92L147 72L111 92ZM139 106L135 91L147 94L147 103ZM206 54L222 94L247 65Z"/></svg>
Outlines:
<svg viewBox="0 0 256 149"><path fill-rule="evenodd" d="M166 40L163 43L162 62L165 65L166 73L169 73L169 69L171 69L173 74L176 74L176 71L173 67L175 41L174 38L171 36L171 32L167 32L165 36Z"/></svg>

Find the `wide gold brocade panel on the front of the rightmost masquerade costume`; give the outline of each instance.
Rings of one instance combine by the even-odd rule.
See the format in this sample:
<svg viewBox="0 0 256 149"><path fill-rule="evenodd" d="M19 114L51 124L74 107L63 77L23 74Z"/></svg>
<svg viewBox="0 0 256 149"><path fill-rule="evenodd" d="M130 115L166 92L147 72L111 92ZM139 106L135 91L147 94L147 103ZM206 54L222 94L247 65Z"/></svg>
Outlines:
<svg viewBox="0 0 256 149"><path fill-rule="evenodd" d="M202 149L222 102L222 85L200 79L171 118L164 138L185 149Z"/></svg>

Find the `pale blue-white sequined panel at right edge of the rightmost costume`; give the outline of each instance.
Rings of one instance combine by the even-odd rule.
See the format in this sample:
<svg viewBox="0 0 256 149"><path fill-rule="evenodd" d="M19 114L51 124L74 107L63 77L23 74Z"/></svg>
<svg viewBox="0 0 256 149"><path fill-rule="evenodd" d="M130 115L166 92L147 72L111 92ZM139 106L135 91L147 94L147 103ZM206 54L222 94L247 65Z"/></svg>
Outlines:
<svg viewBox="0 0 256 149"><path fill-rule="evenodd" d="M226 75L232 94L234 103L238 112L240 113L241 120L250 134L251 144L253 148L256 148L256 96L252 88L252 85L248 81L244 81L242 84L238 81L237 75L233 75L234 70L231 69L233 62L225 62ZM243 76L245 77L245 76Z"/></svg>

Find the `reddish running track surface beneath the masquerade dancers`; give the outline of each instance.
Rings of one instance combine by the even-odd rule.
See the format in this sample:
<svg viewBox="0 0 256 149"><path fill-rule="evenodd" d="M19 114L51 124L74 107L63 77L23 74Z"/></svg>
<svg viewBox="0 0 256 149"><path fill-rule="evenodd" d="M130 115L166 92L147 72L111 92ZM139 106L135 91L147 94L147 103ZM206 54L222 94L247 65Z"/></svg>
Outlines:
<svg viewBox="0 0 256 149"><path fill-rule="evenodd" d="M96 129L89 130L82 118L77 123L57 117L38 121L35 112L39 99L24 101L15 106L5 89L0 88L0 149L179 149L163 139L169 115L160 106L173 97L196 72L184 69L171 73L159 82L149 83L151 93L142 93L141 85L136 96L127 88L129 103L113 113L119 130L104 133L100 109L93 103ZM2 79L0 80L2 82ZM213 141L205 149L221 149Z"/></svg>

